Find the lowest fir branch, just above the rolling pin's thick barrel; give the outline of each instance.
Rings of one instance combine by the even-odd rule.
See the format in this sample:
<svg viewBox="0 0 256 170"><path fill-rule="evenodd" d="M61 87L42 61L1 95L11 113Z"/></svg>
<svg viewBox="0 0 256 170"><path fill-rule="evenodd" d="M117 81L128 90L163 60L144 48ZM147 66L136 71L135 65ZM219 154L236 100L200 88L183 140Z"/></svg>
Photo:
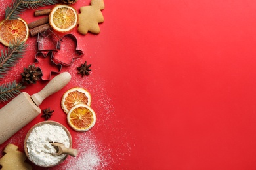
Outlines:
<svg viewBox="0 0 256 170"><path fill-rule="evenodd" d="M0 102L8 101L18 95L25 86L22 83L8 82L0 86Z"/></svg>

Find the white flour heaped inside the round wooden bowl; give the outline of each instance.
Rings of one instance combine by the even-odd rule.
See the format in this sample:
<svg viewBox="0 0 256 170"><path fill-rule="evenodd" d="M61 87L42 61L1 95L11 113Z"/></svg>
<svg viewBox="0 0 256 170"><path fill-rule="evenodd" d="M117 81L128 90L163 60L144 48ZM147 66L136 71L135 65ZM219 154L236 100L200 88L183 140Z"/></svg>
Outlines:
<svg viewBox="0 0 256 170"><path fill-rule="evenodd" d="M62 127L53 124L35 127L27 140L30 160L41 167L51 167L62 161L66 154L56 156L56 149L51 145L53 142L70 147L70 139Z"/></svg>

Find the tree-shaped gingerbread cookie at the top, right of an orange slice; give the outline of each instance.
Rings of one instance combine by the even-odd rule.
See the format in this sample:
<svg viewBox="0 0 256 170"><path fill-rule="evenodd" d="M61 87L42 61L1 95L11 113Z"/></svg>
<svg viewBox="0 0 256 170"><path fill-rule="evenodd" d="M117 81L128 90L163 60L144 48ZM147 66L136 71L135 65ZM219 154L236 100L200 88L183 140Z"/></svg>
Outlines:
<svg viewBox="0 0 256 170"><path fill-rule="evenodd" d="M103 0L91 0L91 5L81 7L77 31L83 35L87 34L88 31L95 34L100 33L98 23L104 22L104 17L101 12L104 7Z"/></svg>

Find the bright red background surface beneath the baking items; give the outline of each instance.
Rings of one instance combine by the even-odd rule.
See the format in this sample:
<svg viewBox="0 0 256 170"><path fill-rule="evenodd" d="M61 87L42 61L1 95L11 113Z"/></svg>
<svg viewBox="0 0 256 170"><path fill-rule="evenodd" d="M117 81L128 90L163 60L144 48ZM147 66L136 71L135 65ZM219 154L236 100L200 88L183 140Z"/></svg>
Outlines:
<svg viewBox="0 0 256 170"><path fill-rule="evenodd" d="M84 152L78 135L92 137L107 164L95 169L256 169L256 2L108 0L102 14L100 34L72 31L85 56L62 68L72 74L70 84L40 106L55 110L50 120L68 127L74 148ZM22 18L37 19L33 10ZM28 55L3 82L20 80L34 62L36 37L26 44ZM81 78L76 67L85 60L93 71ZM82 134L70 129L60 108L62 94L74 86L91 92L98 118ZM8 143L23 150L26 132L41 121L38 116L1 151Z"/></svg>

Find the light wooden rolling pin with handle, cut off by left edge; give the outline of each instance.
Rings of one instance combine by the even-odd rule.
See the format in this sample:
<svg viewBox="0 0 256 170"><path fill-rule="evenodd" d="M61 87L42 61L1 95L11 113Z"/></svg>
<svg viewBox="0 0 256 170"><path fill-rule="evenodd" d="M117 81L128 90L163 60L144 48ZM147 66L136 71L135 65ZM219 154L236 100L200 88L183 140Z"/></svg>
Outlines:
<svg viewBox="0 0 256 170"><path fill-rule="evenodd" d="M38 93L31 97L28 93L22 92L12 99L7 105L0 109L0 144L4 143L14 133L22 129L41 113L38 107L42 101L58 90L64 88L70 82L71 75L68 72L61 73L51 80Z"/></svg>

